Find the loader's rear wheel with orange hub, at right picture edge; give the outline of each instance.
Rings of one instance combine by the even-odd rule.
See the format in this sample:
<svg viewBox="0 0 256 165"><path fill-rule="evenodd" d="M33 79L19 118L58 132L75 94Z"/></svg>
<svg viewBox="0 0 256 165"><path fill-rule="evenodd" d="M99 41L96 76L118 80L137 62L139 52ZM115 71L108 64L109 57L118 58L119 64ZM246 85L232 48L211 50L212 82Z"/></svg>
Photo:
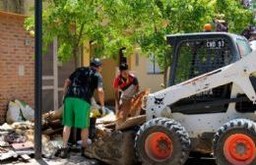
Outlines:
<svg viewBox="0 0 256 165"><path fill-rule="evenodd" d="M213 141L218 165L256 165L256 124L248 119L234 119L224 124Z"/></svg>

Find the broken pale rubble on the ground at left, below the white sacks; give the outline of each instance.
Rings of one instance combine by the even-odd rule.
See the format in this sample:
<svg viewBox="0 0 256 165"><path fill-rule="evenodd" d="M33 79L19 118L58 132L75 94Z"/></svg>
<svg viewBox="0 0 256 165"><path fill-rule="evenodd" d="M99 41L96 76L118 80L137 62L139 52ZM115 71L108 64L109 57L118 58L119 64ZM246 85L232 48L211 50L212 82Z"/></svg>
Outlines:
<svg viewBox="0 0 256 165"><path fill-rule="evenodd" d="M32 122L16 122L0 126L0 160L34 153ZM42 135L42 154L53 158L62 145L62 137ZM28 157L28 156L27 156Z"/></svg>

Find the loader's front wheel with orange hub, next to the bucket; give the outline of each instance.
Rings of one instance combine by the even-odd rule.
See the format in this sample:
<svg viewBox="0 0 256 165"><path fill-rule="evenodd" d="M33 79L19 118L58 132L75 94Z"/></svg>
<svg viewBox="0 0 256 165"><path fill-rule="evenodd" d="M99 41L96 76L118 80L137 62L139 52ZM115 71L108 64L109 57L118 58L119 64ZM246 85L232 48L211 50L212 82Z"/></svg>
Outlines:
<svg viewBox="0 0 256 165"><path fill-rule="evenodd" d="M145 165L183 165L190 147L191 140L185 128L167 118L145 123L135 138L136 155Z"/></svg>

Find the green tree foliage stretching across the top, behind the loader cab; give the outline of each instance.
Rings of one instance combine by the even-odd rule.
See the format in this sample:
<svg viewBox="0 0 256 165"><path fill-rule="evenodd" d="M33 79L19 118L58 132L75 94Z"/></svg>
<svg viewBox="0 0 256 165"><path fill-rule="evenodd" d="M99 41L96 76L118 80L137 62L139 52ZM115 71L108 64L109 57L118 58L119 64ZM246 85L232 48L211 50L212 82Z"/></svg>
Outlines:
<svg viewBox="0 0 256 165"><path fill-rule="evenodd" d="M130 55L154 53L166 70L171 51L165 35L203 31L207 23L224 19L231 32L240 33L252 23L252 12L239 0L45 0L44 47L58 37L61 61L77 57L90 41L94 56L116 57L120 48ZM26 22L28 30L33 18ZM165 68L164 68L165 66Z"/></svg>

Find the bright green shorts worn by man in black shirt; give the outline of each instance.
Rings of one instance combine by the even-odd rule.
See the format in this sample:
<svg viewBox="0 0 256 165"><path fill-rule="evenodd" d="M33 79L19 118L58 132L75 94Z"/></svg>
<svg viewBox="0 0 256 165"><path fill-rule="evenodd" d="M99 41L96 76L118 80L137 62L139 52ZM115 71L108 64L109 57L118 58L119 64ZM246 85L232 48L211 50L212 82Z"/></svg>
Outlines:
<svg viewBox="0 0 256 165"><path fill-rule="evenodd" d="M87 101L76 97L67 97L64 102L62 124L64 126L87 129L90 127L90 107Z"/></svg>

